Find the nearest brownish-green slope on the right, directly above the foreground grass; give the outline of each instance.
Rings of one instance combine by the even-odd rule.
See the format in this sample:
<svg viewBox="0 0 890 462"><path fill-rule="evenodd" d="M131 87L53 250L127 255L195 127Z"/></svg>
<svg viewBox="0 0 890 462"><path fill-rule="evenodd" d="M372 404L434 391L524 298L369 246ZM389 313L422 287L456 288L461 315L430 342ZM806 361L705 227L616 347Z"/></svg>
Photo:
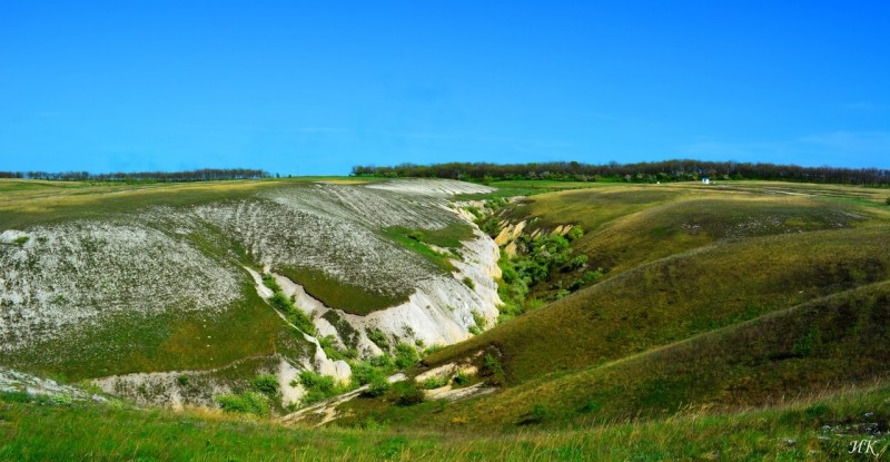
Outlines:
<svg viewBox="0 0 890 462"><path fill-rule="evenodd" d="M533 380L454 405L436 420L473 415L479 426L546 420L592 425L793 401L890 373L890 282L774 312L581 371Z"/></svg>

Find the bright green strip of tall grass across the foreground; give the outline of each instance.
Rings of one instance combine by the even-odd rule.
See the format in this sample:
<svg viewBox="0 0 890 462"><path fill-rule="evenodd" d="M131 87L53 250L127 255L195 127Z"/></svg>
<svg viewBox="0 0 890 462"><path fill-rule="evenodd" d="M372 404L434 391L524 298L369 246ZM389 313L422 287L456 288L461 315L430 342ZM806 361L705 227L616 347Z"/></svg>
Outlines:
<svg viewBox="0 0 890 462"><path fill-rule="evenodd" d="M661 461L876 460L890 445L890 386L849 390L775 410L709 415L684 410L651 422L563 431L477 432L284 427L195 411L28 403L0 394L0 461Z"/></svg>

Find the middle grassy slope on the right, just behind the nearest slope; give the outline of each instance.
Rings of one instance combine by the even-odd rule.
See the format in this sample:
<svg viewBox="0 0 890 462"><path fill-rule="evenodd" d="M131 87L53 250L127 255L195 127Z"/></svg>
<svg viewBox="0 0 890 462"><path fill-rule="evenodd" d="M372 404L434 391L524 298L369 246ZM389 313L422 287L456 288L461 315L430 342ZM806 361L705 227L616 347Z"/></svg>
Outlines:
<svg viewBox="0 0 890 462"><path fill-rule="evenodd" d="M438 352L496 348L510 383L669 344L890 278L890 228L750 238L655 261Z"/></svg>

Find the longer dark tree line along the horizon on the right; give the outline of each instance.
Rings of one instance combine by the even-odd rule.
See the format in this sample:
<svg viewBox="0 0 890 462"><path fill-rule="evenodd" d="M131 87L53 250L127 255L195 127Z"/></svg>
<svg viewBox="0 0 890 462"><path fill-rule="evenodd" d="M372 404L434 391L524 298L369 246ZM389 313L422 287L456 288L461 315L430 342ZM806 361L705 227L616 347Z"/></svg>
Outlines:
<svg viewBox="0 0 890 462"><path fill-rule="evenodd" d="M636 164L612 161L601 165L576 161L504 165L487 163L400 164L395 167L355 166L352 175L389 178L451 178L482 183L503 179L655 183L711 178L890 186L890 170L880 168L801 167L691 159Z"/></svg>

